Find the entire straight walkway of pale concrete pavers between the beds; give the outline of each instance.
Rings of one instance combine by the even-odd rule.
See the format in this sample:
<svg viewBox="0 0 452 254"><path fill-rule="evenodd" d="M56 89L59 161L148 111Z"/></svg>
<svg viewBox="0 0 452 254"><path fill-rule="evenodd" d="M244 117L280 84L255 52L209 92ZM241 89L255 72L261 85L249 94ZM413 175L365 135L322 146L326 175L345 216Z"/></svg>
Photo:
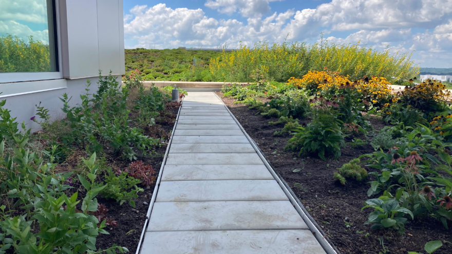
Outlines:
<svg viewBox="0 0 452 254"><path fill-rule="evenodd" d="M189 92L141 253L325 251L223 102Z"/></svg>

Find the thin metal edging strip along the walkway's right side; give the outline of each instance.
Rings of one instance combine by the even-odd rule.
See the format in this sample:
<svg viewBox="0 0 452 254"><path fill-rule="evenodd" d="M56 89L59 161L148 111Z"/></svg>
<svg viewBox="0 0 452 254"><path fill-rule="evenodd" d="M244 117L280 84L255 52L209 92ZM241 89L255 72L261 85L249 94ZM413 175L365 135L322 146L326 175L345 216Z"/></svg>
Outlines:
<svg viewBox="0 0 452 254"><path fill-rule="evenodd" d="M221 98L216 93L213 93L213 94L215 94L215 96L217 96L217 98L221 100ZM223 101L223 100L221 100L221 101ZM224 102L223 102L223 104L224 104ZM270 174L272 174L272 176L275 178L276 182L278 182L279 186L283 189L284 193L289 198L292 205L295 207L295 210L297 211L297 213L302 217L302 219L305 221L306 225L308 225L309 229L311 230L314 237L317 239L318 243L322 246L322 248L328 254L340 254L340 252L337 250L337 248L328 242L325 232L322 229L317 228L318 227L317 223L309 215L306 208L298 200L296 195L293 193L292 189L289 187L289 185L287 185L286 181L284 181L284 179L281 178L281 176L276 173L274 168L268 162L267 158L265 156L263 156L259 147L256 145L254 140L248 135L248 133L243 129L242 125L237 120L237 118L235 118L234 114L232 114L231 110L229 110L228 106L225 105L225 108L231 114L232 118L237 123L237 125L239 126L239 128L243 132L243 134L250 141L250 143L253 146L254 150L256 151L257 155L262 160L263 164L265 164L267 169L270 171Z"/></svg>

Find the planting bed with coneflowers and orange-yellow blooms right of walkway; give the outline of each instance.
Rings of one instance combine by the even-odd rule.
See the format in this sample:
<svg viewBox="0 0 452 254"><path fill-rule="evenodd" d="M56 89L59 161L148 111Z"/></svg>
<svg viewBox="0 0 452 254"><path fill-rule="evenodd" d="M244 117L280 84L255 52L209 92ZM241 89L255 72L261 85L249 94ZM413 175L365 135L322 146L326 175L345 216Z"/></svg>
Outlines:
<svg viewBox="0 0 452 254"><path fill-rule="evenodd" d="M250 51L249 54L256 52ZM371 249L373 245L396 253L424 251L424 247L428 253L449 253L452 250L449 229L452 226L452 108L447 102L450 92L441 82L426 80L413 84L410 76L401 76L409 86L394 92L389 79L381 73L343 75L322 66L302 77L289 77L285 83L268 81L274 78L267 74L259 74L261 79L251 83L225 83L222 96L233 99L235 105L229 104L232 110L237 108L240 114L248 115L248 118L236 116L245 129L249 126L248 132L256 132L259 139L266 140L257 141L261 150L283 178L293 184L302 202L308 202L305 206L311 209L318 207L318 202L333 202L335 199L331 196L331 189L328 190L330 195L317 197L320 194L316 194L314 198L308 197L313 194L309 193L307 185L292 183L292 179L297 177L290 174L310 177L311 172L308 175L303 172L307 172L305 166L313 167L310 165L314 163L310 162L312 160L316 164L322 164L318 160L325 161L323 165L330 172L330 180L324 180L324 184L337 189L337 192L343 190L351 195L353 189L360 192L362 187L365 188L362 193L368 198L353 205L356 215L349 214L345 218L342 231L330 228L329 224L333 223L330 220L317 221L326 230L326 235L333 239L333 244L346 253L378 253ZM416 74L410 73L412 77ZM255 73L250 76L255 79ZM238 110L240 107L247 107L260 118L250 119L249 113ZM282 130L278 131L278 128ZM273 137L265 134L269 131ZM285 151L276 149L271 152L279 146L281 139L287 142L283 146ZM337 165L342 161L343 150L347 151L347 158L350 158L350 153L357 155L329 170L330 164ZM361 151L368 152L363 154ZM284 156L295 158L293 162L276 159ZM293 165L293 168L286 165ZM320 206L322 211L318 217L328 217L324 213L331 213L332 208L327 212L323 209L326 206ZM318 208L314 210L320 214ZM340 213L341 208L335 208L335 211ZM361 226L349 220L352 216L363 215L366 219L359 219ZM406 236L406 230L413 232L416 225L422 228L423 234L438 231L439 239L428 237L421 240L422 244L401 240L413 237L411 233ZM362 235L363 239L373 237L379 241L374 241L377 244L369 243L365 249L361 244L346 244L343 238L350 235L338 237L353 229L358 236L368 230Z"/></svg>

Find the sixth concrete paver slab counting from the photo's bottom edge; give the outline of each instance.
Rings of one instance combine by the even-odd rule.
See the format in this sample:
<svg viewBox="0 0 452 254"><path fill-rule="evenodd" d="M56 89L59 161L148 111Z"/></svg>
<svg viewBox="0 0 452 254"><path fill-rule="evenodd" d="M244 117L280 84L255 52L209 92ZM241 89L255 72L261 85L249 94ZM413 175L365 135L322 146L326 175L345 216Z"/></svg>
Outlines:
<svg viewBox="0 0 452 254"><path fill-rule="evenodd" d="M224 130L223 130L224 131ZM170 154L181 153L256 153L250 143L172 144Z"/></svg>

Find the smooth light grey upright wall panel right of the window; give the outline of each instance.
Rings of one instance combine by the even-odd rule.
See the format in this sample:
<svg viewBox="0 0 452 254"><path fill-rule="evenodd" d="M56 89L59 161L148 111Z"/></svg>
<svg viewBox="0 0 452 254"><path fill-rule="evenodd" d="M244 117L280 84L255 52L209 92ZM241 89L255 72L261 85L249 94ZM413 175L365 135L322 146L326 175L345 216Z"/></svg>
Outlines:
<svg viewBox="0 0 452 254"><path fill-rule="evenodd" d="M60 0L59 9L64 78L125 73L122 0Z"/></svg>

